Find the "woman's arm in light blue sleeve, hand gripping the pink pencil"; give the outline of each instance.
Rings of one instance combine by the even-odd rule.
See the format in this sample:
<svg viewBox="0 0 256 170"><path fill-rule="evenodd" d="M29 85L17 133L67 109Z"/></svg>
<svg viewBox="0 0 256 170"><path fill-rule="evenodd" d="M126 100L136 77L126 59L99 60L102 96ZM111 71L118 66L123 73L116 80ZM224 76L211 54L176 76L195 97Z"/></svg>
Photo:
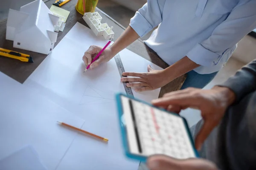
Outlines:
<svg viewBox="0 0 256 170"><path fill-rule="evenodd" d="M130 26L122 33L122 35L111 45L106 48L102 55L90 65L90 68L97 67L102 62L108 62L119 51L122 51L139 37L144 36L154 27L162 22L163 6L166 0L148 0L142 8L140 8L133 18L131 18ZM95 56L102 47L92 45L85 51L83 56L84 64L87 66L91 63L93 56Z"/></svg>

